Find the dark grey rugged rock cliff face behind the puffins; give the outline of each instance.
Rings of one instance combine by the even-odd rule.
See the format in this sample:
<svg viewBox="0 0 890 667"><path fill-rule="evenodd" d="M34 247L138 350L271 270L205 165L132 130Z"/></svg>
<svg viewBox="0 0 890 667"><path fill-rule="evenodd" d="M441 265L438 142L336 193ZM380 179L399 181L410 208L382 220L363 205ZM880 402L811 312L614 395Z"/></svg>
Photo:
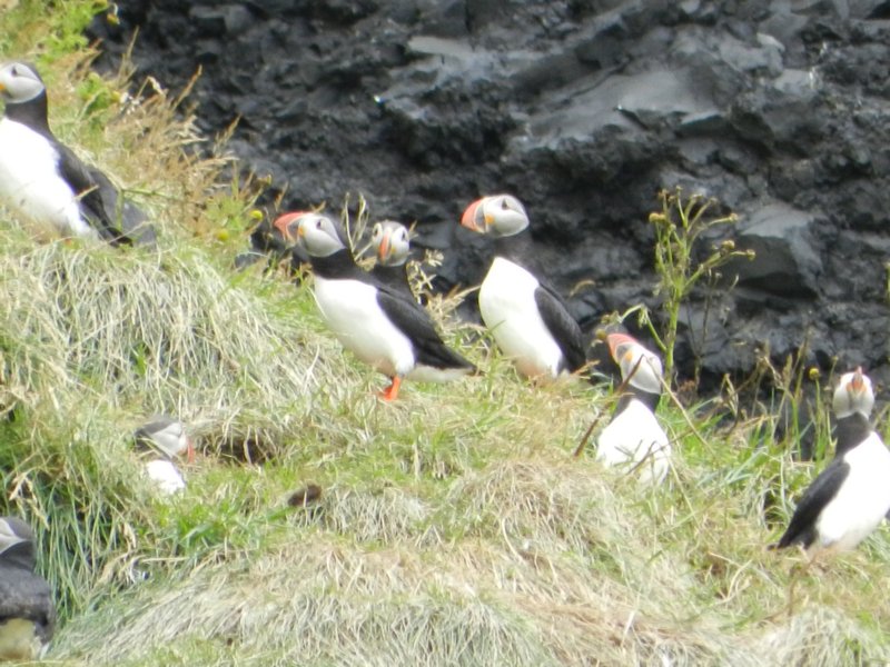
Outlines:
<svg viewBox="0 0 890 667"><path fill-rule="evenodd" d="M862 365L890 384L890 2L877 0L120 0L97 19L112 63L174 89L202 68L205 130L289 208L363 192L418 221L443 288L481 280L464 206L510 191L592 331L657 312L647 213L661 188L713 196L756 251L729 295L682 317L703 382L781 364Z"/></svg>

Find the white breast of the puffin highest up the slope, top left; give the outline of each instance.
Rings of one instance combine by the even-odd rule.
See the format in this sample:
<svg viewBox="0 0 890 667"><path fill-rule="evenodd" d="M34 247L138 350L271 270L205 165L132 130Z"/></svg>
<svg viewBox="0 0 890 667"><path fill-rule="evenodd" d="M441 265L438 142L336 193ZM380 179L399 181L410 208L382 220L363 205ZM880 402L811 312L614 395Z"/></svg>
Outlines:
<svg viewBox="0 0 890 667"><path fill-rule="evenodd" d="M96 237L80 216L75 192L58 175L59 153L26 126L0 120L0 198L62 236Z"/></svg>

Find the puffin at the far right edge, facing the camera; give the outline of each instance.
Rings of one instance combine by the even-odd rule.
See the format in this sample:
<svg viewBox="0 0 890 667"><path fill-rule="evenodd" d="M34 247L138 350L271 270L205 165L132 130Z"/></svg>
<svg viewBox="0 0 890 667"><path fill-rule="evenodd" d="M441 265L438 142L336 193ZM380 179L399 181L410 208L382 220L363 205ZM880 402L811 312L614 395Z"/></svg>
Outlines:
<svg viewBox="0 0 890 667"><path fill-rule="evenodd" d="M890 511L890 450L871 428L871 380L857 368L841 376L832 397L835 454L801 496L773 549L800 545L808 557L848 551Z"/></svg>

